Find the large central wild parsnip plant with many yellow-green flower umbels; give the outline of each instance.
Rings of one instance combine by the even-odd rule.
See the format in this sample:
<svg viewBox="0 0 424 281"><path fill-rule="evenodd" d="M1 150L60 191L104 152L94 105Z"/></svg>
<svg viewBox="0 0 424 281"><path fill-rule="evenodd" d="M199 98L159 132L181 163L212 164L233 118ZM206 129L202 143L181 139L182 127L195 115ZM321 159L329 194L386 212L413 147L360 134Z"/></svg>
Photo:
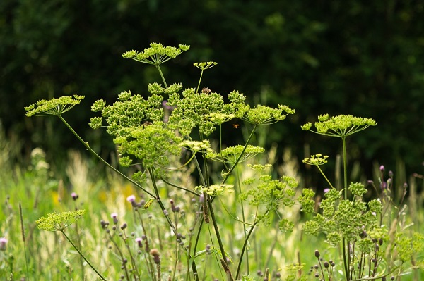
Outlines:
<svg viewBox="0 0 424 281"><path fill-rule="evenodd" d="M149 84L147 87L149 95L146 99L140 94L132 94L128 91L119 94L118 101L112 105L107 105L104 100L100 99L95 101L92 106L92 111L100 112L101 115L92 118L90 126L93 129L106 128L106 131L112 136L114 144L117 145L120 165L136 168L136 172L131 177L122 174L117 168L103 160L90 148L88 142L85 142L66 123L62 114L79 104L83 96L62 96L59 99L43 100L25 109L28 111L28 116L54 115L59 117L86 146L86 149L138 187L148 199L143 201L142 205L136 205L134 213L139 213L139 209L148 210L158 205L162 210L167 227L170 229L168 235L174 237L177 245L175 247L177 253L175 266L171 273L168 273L171 279L175 279L177 266L180 266L179 261L185 259L183 263L187 265L186 272L184 277L179 278L203 280L206 276L218 275L227 280L238 280L242 278L242 272L249 275L249 260L245 253L249 249L249 238L259 225L269 227L271 218L273 218L278 221L278 227L281 230L286 231L293 228L293 223L284 218L279 206L295 204L294 189L298 185L297 181L291 177L272 180L271 176L264 173L266 166L260 166L254 162L251 166L252 169L260 171L262 174L259 176L259 182L254 182L254 178L242 181L238 173L238 166L264 151L261 147L250 144L259 126L271 125L284 120L287 115L293 114L295 111L288 106L270 108L257 105L251 107L245 103L245 96L237 91L228 94L227 102L224 101L223 96L212 92L211 89L203 88L200 91L204 70L217 64L214 62L194 63L196 68L201 69L197 88L183 89L180 83L168 86L160 70L160 65L188 49L189 46L185 45L175 48L152 43L142 52L134 50L126 52L123 54L124 58L132 58L141 63L155 65L163 85L157 82ZM235 118L251 124L249 137L245 144L224 148L221 136L223 130L228 129L224 129L223 125ZM211 134L216 130L219 133L218 149L213 148L213 139L211 139ZM181 158L182 163L175 166L175 161L170 161L175 157ZM220 170L212 170L211 161L221 163ZM192 163L199 178L199 184L194 189L190 189L178 185L178 182L174 183L173 174L179 169L187 168ZM218 178L218 182L212 182L213 178ZM177 207L172 204L173 201L170 201L172 214L168 211L167 194L163 194L160 188L160 185L163 184L193 196L193 200L196 202L194 208L196 208L196 213L201 216L195 216L194 220L184 222L191 225L189 233L186 235L179 232L182 226L178 219L179 212L174 211ZM251 187L251 191L247 191ZM223 221L216 214L220 205L225 208L225 199L223 198L234 196L234 194L240 196L235 200L240 204L241 216L229 214L227 219L233 219L235 223L240 223L244 228L244 239L240 245L242 250L238 261L234 261L228 254L230 245L225 244L223 237L225 230L220 227ZM247 209L254 212L247 216L245 213ZM160 280L162 276L161 253L151 249L150 244L153 244L154 237L151 232L146 230L146 226L143 224L144 219L141 220L140 217L142 235L139 239L134 239L134 242L138 246L143 246L144 242L144 250L148 252L147 250L150 249L150 256L144 254L137 260L138 262L134 256L131 256L131 263L128 265L121 246L115 239L116 233L120 229L121 232L117 236L121 237L128 250L127 253L131 254L131 246L128 244L129 240L124 232L126 226L117 226L117 215L115 214L112 216L112 220L114 221L112 231L108 227L110 224L105 221L103 221L102 227L107 231L112 244L116 246L118 256L122 260L124 278L126 280L143 280L137 265L144 259L148 265L145 272L148 273L151 280ZM206 240L204 239L205 235L208 235ZM158 239L160 240L160 237ZM201 241L208 241L211 246L204 248L199 244ZM208 260L212 263L215 261L220 265L220 270L216 273L207 272L205 266L204 277L200 277L198 264L204 255L211 255L212 258ZM153 266L151 258L156 266ZM242 269L243 261L245 261L244 269ZM232 263L237 266L232 266Z"/></svg>

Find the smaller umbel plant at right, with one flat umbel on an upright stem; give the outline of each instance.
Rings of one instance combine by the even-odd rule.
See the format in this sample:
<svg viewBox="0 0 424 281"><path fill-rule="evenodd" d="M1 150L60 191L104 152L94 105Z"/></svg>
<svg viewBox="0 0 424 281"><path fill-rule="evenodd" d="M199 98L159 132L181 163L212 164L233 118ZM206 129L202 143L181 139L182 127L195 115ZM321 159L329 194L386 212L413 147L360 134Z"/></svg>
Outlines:
<svg viewBox="0 0 424 281"><path fill-rule="evenodd" d="M424 246L422 234L405 235L404 223L399 218L391 220L391 212L396 211L389 196L389 179L384 181L384 167L380 168L382 175L377 199L365 199L368 192L360 182L351 182L348 185L346 137L355 132L375 126L375 120L358 118L352 115L338 115L332 118L329 115L320 115L315 123L316 131L311 130L312 124L306 123L303 130L329 137L340 137L343 147L343 187L334 187L319 167L327 163L328 156L315 154L305 158L303 163L316 166L329 184L325 190L325 199L319 202L320 212L315 213L312 220L308 220L303 229L308 235L323 233L330 246L338 247L341 251L341 265L343 266L343 280L387 280L400 276L409 269L408 263L418 267L417 258L422 259L420 249ZM406 187L406 185L405 185ZM405 189L406 190L406 189ZM404 193L405 195L406 193ZM315 203L312 189L303 189L300 202L305 213L314 213ZM385 205L385 206L383 206ZM406 208L406 207L404 207ZM404 210L403 208L403 210ZM397 211L397 216L403 211ZM388 224L386 224L388 223ZM404 240L408 242L404 242ZM333 260L322 263L319 251L315 251L318 265L314 266L314 274L319 280L334 280ZM337 279L338 277L336 277Z"/></svg>

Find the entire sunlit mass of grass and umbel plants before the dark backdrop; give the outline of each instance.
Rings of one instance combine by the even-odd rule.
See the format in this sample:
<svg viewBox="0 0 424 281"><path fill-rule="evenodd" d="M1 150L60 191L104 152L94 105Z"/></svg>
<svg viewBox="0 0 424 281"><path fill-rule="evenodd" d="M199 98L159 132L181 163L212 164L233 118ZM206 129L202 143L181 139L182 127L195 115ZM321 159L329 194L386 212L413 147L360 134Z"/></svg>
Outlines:
<svg viewBox="0 0 424 281"><path fill-rule="evenodd" d="M105 128L112 137L119 168L66 121L66 111L78 111L73 107L84 96L43 99L25 108L28 116L59 118L110 169L98 177L93 170L99 168L71 154L66 168L71 186L65 187L52 175L44 151L35 149L28 170L1 171L2 179L11 179L1 182L8 187L0 194L6 199L0 220L2 278L423 277L424 214L417 208L423 194L416 193L416 182L402 187L399 201L392 194L397 188L394 173L387 177L384 166L377 173L378 187L373 181L348 185L346 138L377 125L375 120L320 115L315 129L312 123L302 126L342 141L343 176L333 184L321 167L334 156L314 154L304 160L318 168L329 186L321 197L305 187L290 154L279 173L272 165L275 149L257 144L261 127L283 122L295 114L292 108L250 106L237 91L225 99L208 88L200 91L204 70L213 62L194 63L201 69L196 89L183 89L181 83L167 86L160 66L188 50L185 45L151 44L143 52L124 53L124 58L155 65L164 87L150 83L146 98L128 91L111 105L103 99L93 102L91 110L100 116L91 119L90 127ZM222 136L230 130L243 133L245 142L227 146ZM9 145L6 139L4 143ZM409 211L407 203L415 208ZM13 206L19 206L19 216Z"/></svg>

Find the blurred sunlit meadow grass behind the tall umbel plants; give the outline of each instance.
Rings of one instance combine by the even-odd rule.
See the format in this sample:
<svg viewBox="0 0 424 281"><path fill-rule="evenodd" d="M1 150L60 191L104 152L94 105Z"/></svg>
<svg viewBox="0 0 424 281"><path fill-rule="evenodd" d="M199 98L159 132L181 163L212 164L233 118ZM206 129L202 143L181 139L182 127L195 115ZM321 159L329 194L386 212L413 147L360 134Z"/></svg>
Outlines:
<svg viewBox="0 0 424 281"><path fill-rule="evenodd" d="M271 157L268 160L273 160L272 157L275 156L272 151L268 157ZM191 268L184 249L192 250L196 243L195 234L202 216L197 197L164 182L158 183L161 196L167 199L164 204L168 216L182 235L181 239L175 239L155 202L144 208L148 197L114 173L98 170L98 166L87 161L78 152L69 153L64 179L52 174L41 149L33 151L32 159L32 165L28 168L8 167L6 158L2 163L0 236L6 237L7 244L0 251L1 280L98 280L95 272L81 259L61 232L48 232L36 227L35 220L47 213L73 211L76 208L85 209L87 213L66 228L65 232L106 280L155 280L155 263L151 254L146 251L146 245L149 249L158 249L160 253L162 280L193 280L192 275L187 275ZM280 172L300 177L296 170L298 164L288 159L279 168ZM245 171L246 173L248 172ZM99 177L99 174L102 176ZM194 179L190 177L189 171L177 176L180 185L194 187ZM300 192L301 188L298 189ZM76 194L78 198L74 200ZM135 196L135 203L141 202L139 208L133 208L127 201L131 195ZM230 263L233 272L236 270L246 233L237 216L240 214L240 204L235 204L236 195L228 194L220 199L216 208L220 233L228 249L228 256L234 261ZM423 204L423 194L416 194L415 199L413 204L416 209L412 211L416 225L405 231L423 232L424 212L420 207ZM175 208L172 211L170 200L179 211ZM408 209L405 211L410 212ZM254 208L245 206L244 212L249 221ZM269 268L272 280L286 280L288 275L298 275L300 272L307 280L317 280L314 277L316 270L310 273L311 266L317 264L314 256L316 249L320 250L324 260L334 258L334 270L342 272L341 261L336 260L337 249L329 248L323 242L324 237L302 233L305 218L301 216L300 206L285 208L284 212L285 218L295 225L293 232L283 233L272 222L271 225L257 227L247 245L247 255L241 265L242 274L264 280L266 268ZM117 214L116 230L113 227L115 224L112 213ZM109 233L102 228L102 220L110 223L107 227ZM123 227L124 223L126 228ZM225 273L215 254L218 246L212 238L213 227L208 225L197 242L199 255L196 256L196 269L199 279L225 280ZM127 263L124 264L123 260ZM285 270L286 266L299 263L305 264L302 270ZM413 270L399 280L422 280L423 277L423 273Z"/></svg>

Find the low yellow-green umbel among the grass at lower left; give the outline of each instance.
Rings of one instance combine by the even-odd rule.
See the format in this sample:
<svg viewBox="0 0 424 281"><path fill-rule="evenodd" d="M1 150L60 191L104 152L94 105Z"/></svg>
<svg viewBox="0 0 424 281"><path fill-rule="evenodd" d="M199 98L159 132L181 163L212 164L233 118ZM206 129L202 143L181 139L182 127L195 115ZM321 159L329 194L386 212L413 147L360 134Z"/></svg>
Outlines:
<svg viewBox="0 0 424 281"><path fill-rule="evenodd" d="M35 220L40 230L63 231L85 214L86 210L66 211L61 213L49 213L47 217Z"/></svg>

